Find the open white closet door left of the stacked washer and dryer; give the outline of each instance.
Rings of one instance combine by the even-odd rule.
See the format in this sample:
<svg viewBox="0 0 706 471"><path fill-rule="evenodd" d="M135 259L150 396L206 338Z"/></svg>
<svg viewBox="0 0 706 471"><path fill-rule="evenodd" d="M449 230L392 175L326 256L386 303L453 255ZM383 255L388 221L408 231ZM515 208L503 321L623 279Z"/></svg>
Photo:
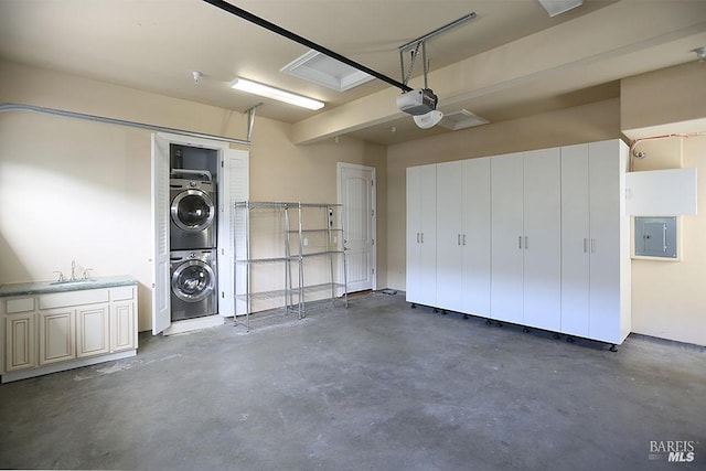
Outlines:
<svg viewBox="0 0 706 471"><path fill-rule="evenodd" d="M169 277L169 140L152 135L152 334L171 324Z"/></svg>

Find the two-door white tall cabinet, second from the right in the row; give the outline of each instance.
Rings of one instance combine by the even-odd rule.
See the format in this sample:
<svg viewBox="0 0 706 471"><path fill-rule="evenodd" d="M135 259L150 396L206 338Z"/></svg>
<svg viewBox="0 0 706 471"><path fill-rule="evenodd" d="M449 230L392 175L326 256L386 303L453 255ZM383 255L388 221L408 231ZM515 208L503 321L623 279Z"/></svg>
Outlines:
<svg viewBox="0 0 706 471"><path fill-rule="evenodd" d="M492 318L559 330L559 149L498 156L492 165Z"/></svg>

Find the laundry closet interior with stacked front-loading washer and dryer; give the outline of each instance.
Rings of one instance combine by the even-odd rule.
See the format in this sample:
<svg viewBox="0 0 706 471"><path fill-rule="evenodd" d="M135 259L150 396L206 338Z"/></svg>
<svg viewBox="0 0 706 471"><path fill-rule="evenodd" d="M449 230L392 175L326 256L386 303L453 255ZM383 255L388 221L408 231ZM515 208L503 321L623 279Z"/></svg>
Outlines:
<svg viewBox="0 0 706 471"><path fill-rule="evenodd" d="M171 319L218 313L217 154L170 148Z"/></svg>

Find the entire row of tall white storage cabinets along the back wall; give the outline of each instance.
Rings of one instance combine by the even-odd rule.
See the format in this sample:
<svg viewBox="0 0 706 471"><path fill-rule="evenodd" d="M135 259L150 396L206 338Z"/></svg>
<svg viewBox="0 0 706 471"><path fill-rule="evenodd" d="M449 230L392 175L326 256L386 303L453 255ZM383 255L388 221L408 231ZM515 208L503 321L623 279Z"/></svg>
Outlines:
<svg viewBox="0 0 706 471"><path fill-rule="evenodd" d="M622 343L627 161L609 140L407 169L407 300Z"/></svg>

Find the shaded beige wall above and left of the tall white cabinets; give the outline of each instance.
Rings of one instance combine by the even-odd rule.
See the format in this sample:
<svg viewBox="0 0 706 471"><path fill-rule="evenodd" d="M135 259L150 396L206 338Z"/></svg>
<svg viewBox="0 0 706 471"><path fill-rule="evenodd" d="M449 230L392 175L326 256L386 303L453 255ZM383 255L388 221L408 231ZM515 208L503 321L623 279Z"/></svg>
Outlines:
<svg viewBox="0 0 706 471"><path fill-rule="evenodd" d="M387 283L405 289L406 169L411 165L620 138L611 99L391 146L387 150Z"/></svg>

